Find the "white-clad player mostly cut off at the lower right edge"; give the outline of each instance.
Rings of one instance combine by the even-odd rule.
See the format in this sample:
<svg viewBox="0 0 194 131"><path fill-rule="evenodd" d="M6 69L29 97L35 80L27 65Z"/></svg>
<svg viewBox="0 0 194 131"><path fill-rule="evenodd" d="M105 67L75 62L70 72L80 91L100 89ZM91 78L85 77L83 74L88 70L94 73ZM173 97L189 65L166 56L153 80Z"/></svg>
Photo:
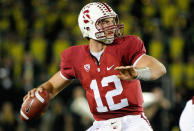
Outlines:
<svg viewBox="0 0 194 131"><path fill-rule="evenodd" d="M181 131L194 131L194 97L187 101L180 117L179 127Z"/></svg>

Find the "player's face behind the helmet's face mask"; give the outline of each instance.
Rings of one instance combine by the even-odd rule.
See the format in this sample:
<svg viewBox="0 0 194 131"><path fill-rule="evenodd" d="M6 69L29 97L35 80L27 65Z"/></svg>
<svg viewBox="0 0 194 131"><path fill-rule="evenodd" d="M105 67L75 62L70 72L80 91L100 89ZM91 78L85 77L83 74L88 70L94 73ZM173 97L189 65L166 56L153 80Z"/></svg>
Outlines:
<svg viewBox="0 0 194 131"><path fill-rule="evenodd" d="M116 25L115 18L106 18L102 19L98 26L102 29L105 30L105 35L107 38L112 38L115 35L115 28L112 26Z"/></svg>

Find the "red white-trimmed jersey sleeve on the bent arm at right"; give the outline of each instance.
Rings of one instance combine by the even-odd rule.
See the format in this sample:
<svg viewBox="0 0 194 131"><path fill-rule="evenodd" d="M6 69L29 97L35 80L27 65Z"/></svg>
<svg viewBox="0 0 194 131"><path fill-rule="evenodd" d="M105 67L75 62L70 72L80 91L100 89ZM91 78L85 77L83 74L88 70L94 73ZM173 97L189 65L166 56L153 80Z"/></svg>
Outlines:
<svg viewBox="0 0 194 131"><path fill-rule="evenodd" d="M131 65L134 65L143 55L146 54L146 49L143 41L137 37L133 36L130 41L130 51L129 51L129 61Z"/></svg>

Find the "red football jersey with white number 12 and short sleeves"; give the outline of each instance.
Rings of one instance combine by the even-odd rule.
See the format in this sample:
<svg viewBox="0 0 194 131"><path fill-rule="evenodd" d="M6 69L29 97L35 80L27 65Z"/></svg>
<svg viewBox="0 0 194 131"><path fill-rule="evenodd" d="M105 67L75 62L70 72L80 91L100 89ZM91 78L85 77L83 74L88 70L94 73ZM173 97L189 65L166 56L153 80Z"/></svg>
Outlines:
<svg viewBox="0 0 194 131"><path fill-rule="evenodd" d="M117 66L133 65L146 53L136 36L118 38L108 45L97 62L89 45L72 46L61 55L61 74L77 78L86 91L95 120L107 120L143 112L143 96L139 80L120 80Z"/></svg>

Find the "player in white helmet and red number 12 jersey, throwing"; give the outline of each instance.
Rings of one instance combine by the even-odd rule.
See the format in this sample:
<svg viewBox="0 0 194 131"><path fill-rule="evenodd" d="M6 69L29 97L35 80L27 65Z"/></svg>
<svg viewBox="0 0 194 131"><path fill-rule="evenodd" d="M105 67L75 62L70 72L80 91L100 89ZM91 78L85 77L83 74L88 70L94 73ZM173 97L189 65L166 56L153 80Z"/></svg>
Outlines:
<svg viewBox="0 0 194 131"><path fill-rule="evenodd" d="M146 55L139 37L122 36L124 25L106 3L85 5L78 23L89 44L64 50L60 71L24 99L36 90L48 90L53 98L77 78L95 119L88 131L151 131L139 80L158 79L166 73L164 65Z"/></svg>

